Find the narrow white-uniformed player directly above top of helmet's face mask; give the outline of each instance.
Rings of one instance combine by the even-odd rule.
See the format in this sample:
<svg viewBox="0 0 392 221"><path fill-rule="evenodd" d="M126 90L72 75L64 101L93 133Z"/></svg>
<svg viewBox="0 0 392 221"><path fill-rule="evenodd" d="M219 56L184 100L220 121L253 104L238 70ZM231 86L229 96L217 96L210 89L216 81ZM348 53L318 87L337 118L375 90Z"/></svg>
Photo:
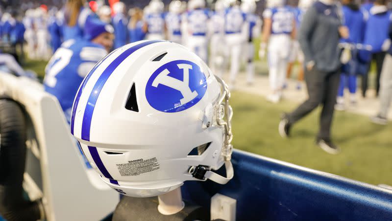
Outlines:
<svg viewBox="0 0 392 221"><path fill-rule="evenodd" d="M210 40L210 68L215 75L222 76L225 64L224 50L224 0L215 2L215 11L211 16L212 35Z"/></svg>

